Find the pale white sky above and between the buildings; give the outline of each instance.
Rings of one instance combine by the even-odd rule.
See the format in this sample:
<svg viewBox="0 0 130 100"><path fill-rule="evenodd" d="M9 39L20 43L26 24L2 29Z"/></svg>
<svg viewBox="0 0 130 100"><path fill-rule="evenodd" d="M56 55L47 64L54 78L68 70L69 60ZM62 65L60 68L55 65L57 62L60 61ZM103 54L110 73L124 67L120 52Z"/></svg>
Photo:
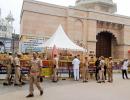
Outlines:
<svg viewBox="0 0 130 100"><path fill-rule="evenodd" d="M69 6L74 5L76 0L37 0L48 2L52 4ZM125 16L130 16L130 0L113 0L117 3L117 13ZM0 0L0 8L2 17L6 17L8 13L11 11L15 21L14 21L14 29L16 33L20 32L20 12L22 8L23 0Z"/></svg>

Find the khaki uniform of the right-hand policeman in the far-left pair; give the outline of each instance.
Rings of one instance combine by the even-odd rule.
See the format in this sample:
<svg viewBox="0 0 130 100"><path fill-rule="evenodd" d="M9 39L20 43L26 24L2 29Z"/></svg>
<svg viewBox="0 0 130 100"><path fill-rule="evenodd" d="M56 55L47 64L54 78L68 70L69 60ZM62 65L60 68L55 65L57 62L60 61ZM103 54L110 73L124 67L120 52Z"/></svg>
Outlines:
<svg viewBox="0 0 130 100"><path fill-rule="evenodd" d="M21 69L20 69L20 59L15 57L15 84L20 84L20 76L21 76Z"/></svg>

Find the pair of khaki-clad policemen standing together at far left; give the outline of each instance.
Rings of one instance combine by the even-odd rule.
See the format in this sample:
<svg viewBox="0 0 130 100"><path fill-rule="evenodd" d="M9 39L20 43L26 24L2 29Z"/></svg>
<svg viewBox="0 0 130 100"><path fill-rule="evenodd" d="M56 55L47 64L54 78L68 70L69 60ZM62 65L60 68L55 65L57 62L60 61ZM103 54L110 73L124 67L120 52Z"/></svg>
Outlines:
<svg viewBox="0 0 130 100"><path fill-rule="evenodd" d="M6 83L4 85L11 85L13 73L15 74L14 77L14 85L20 86L21 84L21 71L20 71L20 53L17 53L16 57L13 57L12 53L10 52L7 59L6 59L6 68L7 68L7 76L6 76Z"/></svg>

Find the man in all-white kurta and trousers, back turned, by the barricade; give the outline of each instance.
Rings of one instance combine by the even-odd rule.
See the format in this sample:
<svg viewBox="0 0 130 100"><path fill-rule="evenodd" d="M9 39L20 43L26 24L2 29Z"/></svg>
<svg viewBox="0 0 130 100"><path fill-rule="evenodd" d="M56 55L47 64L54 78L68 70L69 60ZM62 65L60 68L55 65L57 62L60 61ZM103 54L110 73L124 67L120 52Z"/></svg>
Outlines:
<svg viewBox="0 0 130 100"><path fill-rule="evenodd" d="M74 73L74 80L79 80L79 65L80 60L75 56L74 60L72 61L73 64L73 73Z"/></svg>

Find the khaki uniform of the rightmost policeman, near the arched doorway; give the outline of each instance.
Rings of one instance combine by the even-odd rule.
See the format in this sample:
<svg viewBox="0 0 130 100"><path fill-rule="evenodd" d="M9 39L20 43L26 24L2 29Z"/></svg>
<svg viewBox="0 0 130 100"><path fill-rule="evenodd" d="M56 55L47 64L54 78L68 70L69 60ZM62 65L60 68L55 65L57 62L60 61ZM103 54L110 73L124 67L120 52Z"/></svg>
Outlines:
<svg viewBox="0 0 130 100"><path fill-rule="evenodd" d="M112 70L112 66L113 66L113 61L109 61L108 62L108 67L107 67L107 72L108 72L108 81L112 82L113 81L113 70Z"/></svg>

